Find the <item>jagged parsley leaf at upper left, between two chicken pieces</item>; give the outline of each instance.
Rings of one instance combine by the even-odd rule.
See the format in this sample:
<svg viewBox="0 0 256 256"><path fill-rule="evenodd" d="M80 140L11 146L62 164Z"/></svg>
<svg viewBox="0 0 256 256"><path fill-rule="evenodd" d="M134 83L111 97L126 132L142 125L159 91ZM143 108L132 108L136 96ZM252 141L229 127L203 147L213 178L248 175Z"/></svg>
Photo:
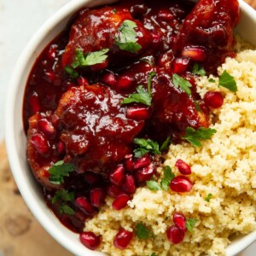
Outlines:
<svg viewBox="0 0 256 256"><path fill-rule="evenodd" d="M93 66L96 64L101 64L104 61L107 60L109 49L102 49L99 51L90 52L87 55L84 55L84 52L82 49L76 49L75 54L75 61L71 64L71 67L77 68L77 67L87 67L87 66Z"/></svg>

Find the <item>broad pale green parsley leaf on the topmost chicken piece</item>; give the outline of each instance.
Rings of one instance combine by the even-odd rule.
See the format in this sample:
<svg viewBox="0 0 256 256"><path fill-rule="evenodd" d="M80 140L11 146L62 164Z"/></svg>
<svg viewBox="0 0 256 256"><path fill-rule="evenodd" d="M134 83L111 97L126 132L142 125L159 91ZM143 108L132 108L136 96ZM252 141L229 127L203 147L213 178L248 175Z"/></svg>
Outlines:
<svg viewBox="0 0 256 256"><path fill-rule="evenodd" d="M119 49L137 53L142 46L137 44L137 32L135 28L137 24L132 20L125 20L119 26L119 36L114 38L114 43L119 46Z"/></svg>

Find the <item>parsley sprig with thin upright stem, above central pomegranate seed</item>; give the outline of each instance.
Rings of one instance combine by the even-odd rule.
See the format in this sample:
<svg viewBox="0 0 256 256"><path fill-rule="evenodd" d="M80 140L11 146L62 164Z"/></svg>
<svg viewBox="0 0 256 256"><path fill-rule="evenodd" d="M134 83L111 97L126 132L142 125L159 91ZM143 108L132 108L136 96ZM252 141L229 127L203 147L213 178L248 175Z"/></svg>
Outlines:
<svg viewBox="0 0 256 256"><path fill-rule="evenodd" d="M144 105L151 106L152 95L151 95L151 84L152 79L156 76L155 72L151 72L148 75L148 91L144 90L143 85L137 87L137 93L130 94L128 98L125 98L121 104L130 104L133 102L143 103Z"/></svg>

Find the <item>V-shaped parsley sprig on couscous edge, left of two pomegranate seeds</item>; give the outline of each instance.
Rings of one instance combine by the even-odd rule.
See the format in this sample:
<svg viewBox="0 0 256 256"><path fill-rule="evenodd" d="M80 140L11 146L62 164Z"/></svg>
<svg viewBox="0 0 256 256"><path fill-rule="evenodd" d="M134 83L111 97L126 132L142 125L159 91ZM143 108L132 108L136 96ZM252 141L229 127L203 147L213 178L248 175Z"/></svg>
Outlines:
<svg viewBox="0 0 256 256"><path fill-rule="evenodd" d="M148 189L150 190L165 190L167 191L169 189L169 185L175 177L174 173L172 172L172 168L170 166L165 166L164 169L164 177L160 181L160 184L157 183L154 180L147 181Z"/></svg>

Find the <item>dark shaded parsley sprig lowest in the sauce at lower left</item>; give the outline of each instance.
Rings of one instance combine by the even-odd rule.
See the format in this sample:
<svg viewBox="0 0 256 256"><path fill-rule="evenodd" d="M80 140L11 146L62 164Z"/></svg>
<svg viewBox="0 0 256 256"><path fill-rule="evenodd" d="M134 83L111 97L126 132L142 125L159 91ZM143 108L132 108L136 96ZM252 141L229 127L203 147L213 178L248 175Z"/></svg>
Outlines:
<svg viewBox="0 0 256 256"><path fill-rule="evenodd" d="M61 201L59 206L60 213L65 213L68 215L73 215L75 212L72 207L69 207L66 202L74 201L74 192L69 192L65 189L61 189L55 192L54 197L51 199L52 204L55 204L57 201Z"/></svg>

